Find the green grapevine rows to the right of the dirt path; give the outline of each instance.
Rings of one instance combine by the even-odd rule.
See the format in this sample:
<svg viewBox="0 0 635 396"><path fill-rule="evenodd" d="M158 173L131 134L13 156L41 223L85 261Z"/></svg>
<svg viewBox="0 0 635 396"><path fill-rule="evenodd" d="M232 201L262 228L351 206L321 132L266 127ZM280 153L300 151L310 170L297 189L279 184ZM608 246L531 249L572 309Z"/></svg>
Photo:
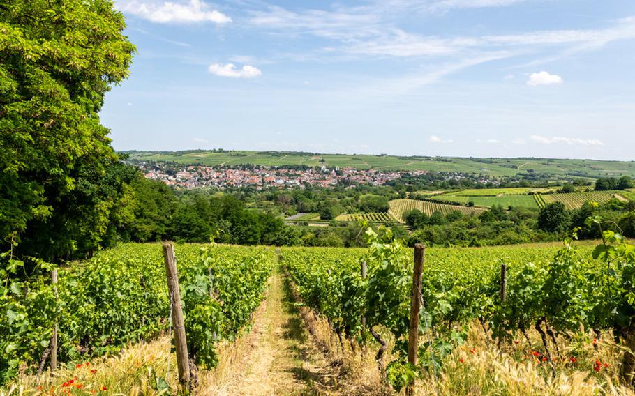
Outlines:
<svg viewBox="0 0 635 396"><path fill-rule="evenodd" d="M414 353L421 359L414 367L407 342L412 332L412 251L371 231L368 235L372 248L367 252L285 249L281 261L304 303L327 317L335 333L362 344L372 336L379 370L396 389L408 386L421 371L443 370L447 356L468 340L474 322L498 339L499 347L507 344L512 351L521 343L518 337L525 337L528 351L512 356L519 364L527 359L543 364L545 373L553 370L554 376L556 365L559 370L595 371L597 378L602 378L602 369L615 373L597 353L602 330L613 330L622 344L635 347L630 321L635 288L629 275L635 270L635 250L621 236L606 232L605 243L592 253L595 259L590 248L574 248L569 242L558 251L429 250L417 327L424 341ZM534 329L541 336L539 344L532 344L528 335ZM571 334L575 341L563 350L558 334ZM384 365L388 340L395 347ZM583 346L591 343L595 349ZM625 353L623 367L631 372L635 356Z"/></svg>

